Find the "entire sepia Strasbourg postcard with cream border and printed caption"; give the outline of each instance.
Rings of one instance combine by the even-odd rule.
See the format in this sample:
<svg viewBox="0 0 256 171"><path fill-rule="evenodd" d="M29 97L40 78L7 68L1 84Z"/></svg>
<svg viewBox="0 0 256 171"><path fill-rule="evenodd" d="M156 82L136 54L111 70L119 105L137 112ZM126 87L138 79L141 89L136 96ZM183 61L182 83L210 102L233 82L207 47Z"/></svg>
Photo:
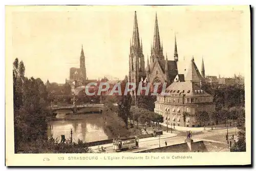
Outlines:
<svg viewBox="0 0 256 171"><path fill-rule="evenodd" d="M249 6L6 6L7 166L251 164Z"/></svg>

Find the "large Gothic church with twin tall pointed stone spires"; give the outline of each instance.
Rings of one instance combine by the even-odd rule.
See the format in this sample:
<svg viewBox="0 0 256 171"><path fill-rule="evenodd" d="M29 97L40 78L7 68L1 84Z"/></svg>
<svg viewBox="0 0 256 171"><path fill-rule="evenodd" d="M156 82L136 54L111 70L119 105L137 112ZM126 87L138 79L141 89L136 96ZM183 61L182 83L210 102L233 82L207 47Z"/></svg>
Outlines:
<svg viewBox="0 0 256 171"><path fill-rule="evenodd" d="M170 84L178 75L178 51L175 35L174 60L168 60L167 55L163 55L163 44L161 44L157 14L155 18L155 29L153 45L151 45L150 60L147 57L147 66L145 67L142 40L139 38L139 29L137 14L134 14L134 28L132 42L130 42L129 55L129 82L135 82L138 86L140 81L147 82L167 82ZM180 74L180 77L182 74Z"/></svg>

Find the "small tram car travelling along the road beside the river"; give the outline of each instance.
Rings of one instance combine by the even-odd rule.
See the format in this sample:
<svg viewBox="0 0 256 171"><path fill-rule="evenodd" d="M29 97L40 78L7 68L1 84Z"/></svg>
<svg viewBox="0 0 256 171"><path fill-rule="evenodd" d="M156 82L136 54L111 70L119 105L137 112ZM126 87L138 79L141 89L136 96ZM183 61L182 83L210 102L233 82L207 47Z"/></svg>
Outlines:
<svg viewBox="0 0 256 171"><path fill-rule="evenodd" d="M123 149L129 148L138 148L139 147L139 138L118 138L113 140L113 151L120 152Z"/></svg>

